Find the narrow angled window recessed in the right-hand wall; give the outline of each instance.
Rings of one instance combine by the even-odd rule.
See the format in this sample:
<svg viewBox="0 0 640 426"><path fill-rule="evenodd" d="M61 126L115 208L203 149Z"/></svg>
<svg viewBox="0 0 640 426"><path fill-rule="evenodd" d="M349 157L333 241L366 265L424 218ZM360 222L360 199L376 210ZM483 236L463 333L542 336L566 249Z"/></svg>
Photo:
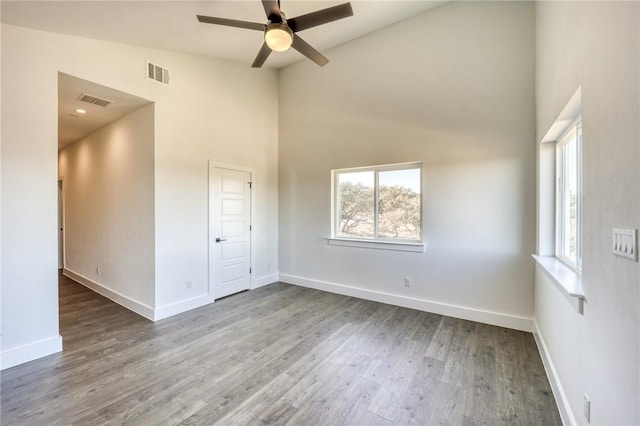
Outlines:
<svg viewBox="0 0 640 426"><path fill-rule="evenodd" d="M582 124L572 125L557 148L556 256L582 266Z"/></svg>

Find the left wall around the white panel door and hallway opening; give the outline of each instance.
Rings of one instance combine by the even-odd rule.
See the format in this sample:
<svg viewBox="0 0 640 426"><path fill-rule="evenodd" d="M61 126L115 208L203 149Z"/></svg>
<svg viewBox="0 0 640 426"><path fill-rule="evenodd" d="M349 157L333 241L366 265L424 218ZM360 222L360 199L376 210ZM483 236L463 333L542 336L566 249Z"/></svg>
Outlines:
<svg viewBox="0 0 640 426"><path fill-rule="evenodd" d="M170 86L146 79L146 60L171 71ZM61 348L59 72L155 103L156 312L206 302L209 160L255 170L253 280L277 279L275 70L2 24L3 368Z"/></svg>

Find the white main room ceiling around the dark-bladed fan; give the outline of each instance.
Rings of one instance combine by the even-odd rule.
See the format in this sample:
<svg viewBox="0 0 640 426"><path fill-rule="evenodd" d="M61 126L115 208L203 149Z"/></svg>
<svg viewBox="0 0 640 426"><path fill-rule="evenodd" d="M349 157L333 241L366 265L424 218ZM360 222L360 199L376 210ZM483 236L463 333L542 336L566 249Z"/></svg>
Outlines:
<svg viewBox="0 0 640 426"><path fill-rule="evenodd" d="M354 16L299 33L321 52L421 14L446 0L355 0ZM282 0L292 18L344 3ZM2 22L99 40L192 53L250 66L262 45L260 31L203 24L196 15L265 23L260 0L236 1L6 1ZM331 60L331 55L329 60ZM265 67L306 60L291 49L272 53Z"/></svg>

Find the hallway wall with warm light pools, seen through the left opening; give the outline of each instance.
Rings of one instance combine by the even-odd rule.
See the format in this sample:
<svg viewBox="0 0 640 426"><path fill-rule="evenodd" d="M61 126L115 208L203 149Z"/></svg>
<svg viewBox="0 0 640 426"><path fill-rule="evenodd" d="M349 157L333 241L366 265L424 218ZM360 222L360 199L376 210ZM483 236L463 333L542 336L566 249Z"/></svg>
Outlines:
<svg viewBox="0 0 640 426"><path fill-rule="evenodd" d="M153 130L150 104L58 155L65 273L147 316L155 306Z"/></svg>

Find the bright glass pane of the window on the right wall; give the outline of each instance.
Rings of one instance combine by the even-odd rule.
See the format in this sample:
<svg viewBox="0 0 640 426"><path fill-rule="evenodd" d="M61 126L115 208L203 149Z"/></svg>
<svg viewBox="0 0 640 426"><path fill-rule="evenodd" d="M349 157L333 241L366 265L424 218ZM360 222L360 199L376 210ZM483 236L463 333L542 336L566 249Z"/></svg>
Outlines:
<svg viewBox="0 0 640 426"><path fill-rule="evenodd" d="M563 255L578 259L578 143L571 138L564 145L563 182Z"/></svg>

